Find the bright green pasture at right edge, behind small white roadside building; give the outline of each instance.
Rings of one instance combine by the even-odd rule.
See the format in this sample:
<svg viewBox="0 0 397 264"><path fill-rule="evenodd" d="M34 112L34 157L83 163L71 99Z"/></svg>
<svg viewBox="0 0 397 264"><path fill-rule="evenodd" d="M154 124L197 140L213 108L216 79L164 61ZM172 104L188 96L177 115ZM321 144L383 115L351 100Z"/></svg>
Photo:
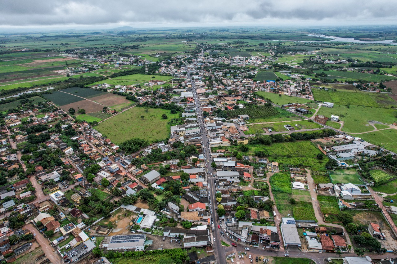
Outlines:
<svg viewBox="0 0 397 264"><path fill-rule="evenodd" d="M335 104L333 108L320 107L320 110L318 110L317 114L324 115L329 118L331 117L331 115L337 115L339 116L339 119L341 121L345 121L345 124L343 125L342 128L343 131L349 133L361 133L361 132L369 132L374 130L374 128L368 123L368 121L371 120L379 121L384 124L392 124L396 122L395 116L397 115L397 110L391 108L387 109L387 108L355 106L355 105L351 105L349 108L347 108L345 105ZM378 133L382 131L385 130L378 131ZM376 134L374 136L370 134L359 134L359 135L360 138L366 137L369 142L371 142L372 140L373 142L371 143L376 144L376 140L377 140ZM379 141L379 143L383 143L383 142Z"/></svg>

